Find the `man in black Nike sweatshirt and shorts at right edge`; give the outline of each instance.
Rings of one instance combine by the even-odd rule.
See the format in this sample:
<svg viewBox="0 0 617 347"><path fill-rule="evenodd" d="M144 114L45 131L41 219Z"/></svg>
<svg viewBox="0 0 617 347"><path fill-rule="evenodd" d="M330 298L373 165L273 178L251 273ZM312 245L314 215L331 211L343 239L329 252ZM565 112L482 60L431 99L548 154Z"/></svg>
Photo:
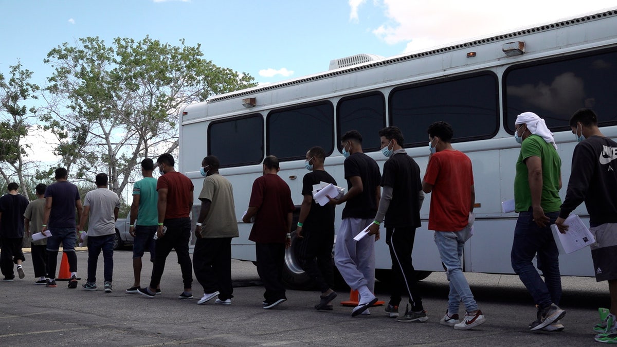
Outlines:
<svg viewBox="0 0 617 347"><path fill-rule="evenodd" d="M610 310L598 309L600 323L595 325L595 340L617 343L617 142L598 128L598 117L590 109L572 115L569 125L579 144L572 154L572 173L566 198L555 221L560 232L567 233L565 219L583 201L589 213L589 231L596 243L591 245L595 279L608 281Z"/></svg>

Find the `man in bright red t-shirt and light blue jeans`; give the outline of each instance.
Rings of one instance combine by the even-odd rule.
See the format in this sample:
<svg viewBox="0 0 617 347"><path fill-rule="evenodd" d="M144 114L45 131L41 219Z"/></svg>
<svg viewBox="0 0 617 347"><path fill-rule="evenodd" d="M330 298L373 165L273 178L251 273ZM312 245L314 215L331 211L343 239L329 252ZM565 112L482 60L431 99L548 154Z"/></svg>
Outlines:
<svg viewBox="0 0 617 347"><path fill-rule="evenodd" d="M454 134L450 124L435 122L428 127L429 154L422 182L424 193L431 193L429 230L435 230L435 243L450 280L448 311L439 322L457 330L467 330L484 322L469 284L463 275L461 257L465 241L471 236L469 223L476 194L471 161L452 148ZM463 301L467 313L458 322L458 305Z"/></svg>

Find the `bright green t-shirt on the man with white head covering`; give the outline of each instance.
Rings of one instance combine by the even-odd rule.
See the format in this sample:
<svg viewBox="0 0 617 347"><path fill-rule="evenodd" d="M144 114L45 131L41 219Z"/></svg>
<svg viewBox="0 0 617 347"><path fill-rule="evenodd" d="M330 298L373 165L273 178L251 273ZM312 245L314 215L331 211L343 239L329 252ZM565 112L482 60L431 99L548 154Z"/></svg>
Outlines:
<svg viewBox="0 0 617 347"><path fill-rule="evenodd" d="M514 203L516 212L528 211L531 207L531 190L529 189L529 172L525 160L539 157L542 161L542 198L540 206L544 212L557 212L561 206L559 197L559 178L561 176L561 159L552 144L544 138L531 135L521 144L521 153L516 161L514 177Z"/></svg>

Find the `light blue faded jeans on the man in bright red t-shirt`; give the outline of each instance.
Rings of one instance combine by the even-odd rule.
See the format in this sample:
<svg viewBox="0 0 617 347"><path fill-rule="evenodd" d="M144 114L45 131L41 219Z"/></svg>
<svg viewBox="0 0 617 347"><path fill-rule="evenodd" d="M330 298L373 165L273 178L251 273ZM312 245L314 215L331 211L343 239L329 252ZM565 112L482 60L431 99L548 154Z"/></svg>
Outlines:
<svg viewBox="0 0 617 347"><path fill-rule="evenodd" d="M467 312L478 310L478 304L473 298L469 283L463 274L461 257L465 246L465 230L459 232L435 232L435 243L441 262L444 263L446 274L450 280L448 296L448 312L458 314L458 306L463 302Z"/></svg>

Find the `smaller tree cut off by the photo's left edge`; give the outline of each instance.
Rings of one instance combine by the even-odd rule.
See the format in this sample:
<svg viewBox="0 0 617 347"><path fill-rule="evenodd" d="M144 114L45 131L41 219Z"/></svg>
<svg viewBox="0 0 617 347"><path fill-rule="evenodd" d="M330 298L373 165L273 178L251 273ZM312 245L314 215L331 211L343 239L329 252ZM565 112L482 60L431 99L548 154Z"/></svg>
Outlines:
<svg viewBox="0 0 617 347"><path fill-rule="evenodd" d="M18 182L21 193L28 196L31 180L27 172L36 163L28 161L30 145L24 140L36 120L36 109L26 104L37 98L39 86L30 83L32 72L19 62L9 70L9 78L0 73L0 176L5 182Z"/></svg>

